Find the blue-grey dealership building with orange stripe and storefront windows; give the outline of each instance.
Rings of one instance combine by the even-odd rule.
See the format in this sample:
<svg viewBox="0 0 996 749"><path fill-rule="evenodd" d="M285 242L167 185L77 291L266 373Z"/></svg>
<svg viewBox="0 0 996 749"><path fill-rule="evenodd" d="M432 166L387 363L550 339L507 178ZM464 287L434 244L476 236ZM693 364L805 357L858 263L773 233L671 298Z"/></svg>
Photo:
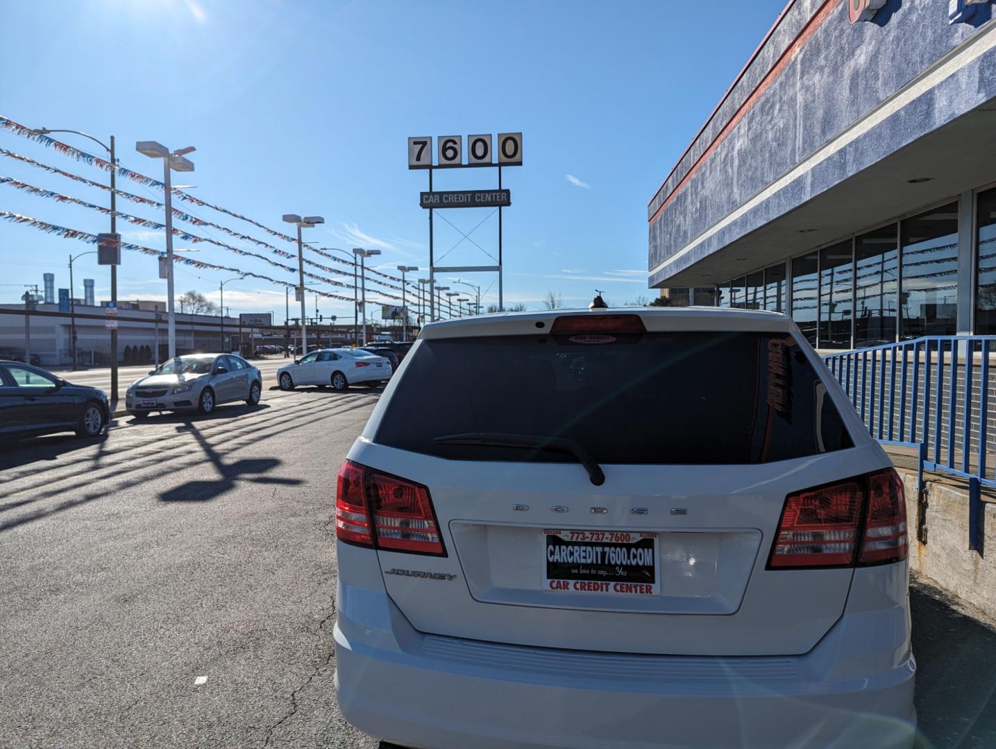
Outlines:
<svg viewBox="0 0 996 749"><path fill-rule="evenodd" d="M996 334L996 6L789 2L647 218L674 303L821 349Z"/></svg>

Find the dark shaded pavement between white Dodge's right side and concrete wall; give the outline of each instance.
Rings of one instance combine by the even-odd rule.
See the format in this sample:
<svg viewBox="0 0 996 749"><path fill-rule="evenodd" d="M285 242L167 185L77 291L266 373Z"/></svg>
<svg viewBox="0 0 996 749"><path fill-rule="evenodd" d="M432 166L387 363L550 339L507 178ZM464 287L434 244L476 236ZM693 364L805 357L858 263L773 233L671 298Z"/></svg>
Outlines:
<svg viewBox="0 0 996 749"><path fill-rule="evenodd" d="M996 746L996 628L911 581L917 749Z"/></svg>

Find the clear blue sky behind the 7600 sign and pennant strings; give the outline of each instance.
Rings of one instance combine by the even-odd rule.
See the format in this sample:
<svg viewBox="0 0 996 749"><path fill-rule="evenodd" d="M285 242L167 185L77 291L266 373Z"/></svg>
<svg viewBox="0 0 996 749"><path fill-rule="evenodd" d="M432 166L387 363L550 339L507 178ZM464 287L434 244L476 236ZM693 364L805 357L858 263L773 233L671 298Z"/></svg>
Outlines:
<svg viewBox="0 0 996 749"><path fill-rule="evenodd" d="M189 192L279 231L284 213L321 215L306 239L327 247L379 249L376 267L425 268L428 226L418 207L424 172L406 168L406 137L523 132L524 165L504 170L512 207L504 212L505 299L540 305L548 289L569 305L596 287L612 303L646 288L646 203L747 61L784 0L655 2L277 2L276 0L62 0L5 3L0 25L4 72L0 114L28 126L117 136L124 166L161 178L161 162L136 140L197 147ZM58 136L97 155L76 136ZM0 130L0 147L102 181L96 167ZM0 175L105 205L107 193L0 157ZM488 188L496 170L440 171L435 189ZM119 188L161 200L128 180ZM183 203L176 207L282 249L237 219ZM161 222L161 211L119 201L118 209ZM98 233L106 216L0 185L0 210ZM490 209L437 212L437 264L490 265L497 216ZM182 224L195 234L202 230ZM159 249L162 232L119 222L124 239ZM291 233L291 232L289 232ZM237 247L265 250L211 232ZM190 243L177 240L177 247ZM198 244L190 257L294 281L262 261ZM93 248L0 221L0 301L56 274ZM333 265L318 256L313 260ZM274 258L275 260L279 260ZM321 273L321 272L316 272ZM396 272L395 272L396 273ZM418 274L423 275L423 274ZM74 266L109 295L96 256ZM217 301L209 270L178 267L177 293L194 288ZM442 278L455 278L445 275ZM119 297L164 298L154 258L124 254ZM495 274L463 274L497 300ZM454 288L466 286L454 285ZM371 286L373 287L373 285ZM326 286L328 290L335 290ZM467 289L468 291L470 289ZM352 296L352 290L344 292ZM273 310L284 291L233 281L225 303ZM373 297L373 294L372 294ZM314 298L309 296L309 309ZM293 295L291 299L293 311ZM351 302L323 298L320 309L352 315Z"/></svg>

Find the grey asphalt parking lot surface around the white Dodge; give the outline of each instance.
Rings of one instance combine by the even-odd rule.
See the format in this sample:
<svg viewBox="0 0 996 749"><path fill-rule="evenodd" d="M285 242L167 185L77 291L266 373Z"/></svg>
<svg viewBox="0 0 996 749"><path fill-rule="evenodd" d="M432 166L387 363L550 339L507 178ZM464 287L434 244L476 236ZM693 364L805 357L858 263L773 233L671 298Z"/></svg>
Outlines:
<svg viewBox="0 0 996 749"><path fill-rule="evenodd" d="M375 747L335 703L332 520L379 392L4 446L0 747ZM996 746L996 630L912 601L919 745Z"/></svg>

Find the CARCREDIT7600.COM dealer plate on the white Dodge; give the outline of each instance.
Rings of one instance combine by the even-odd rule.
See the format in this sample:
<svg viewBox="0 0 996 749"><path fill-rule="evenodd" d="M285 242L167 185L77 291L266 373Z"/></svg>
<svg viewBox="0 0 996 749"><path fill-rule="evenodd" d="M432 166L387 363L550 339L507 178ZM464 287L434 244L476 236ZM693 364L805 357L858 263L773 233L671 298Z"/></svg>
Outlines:
<svg viewBox="0 0 996 749"><path fill-rule="evenodd" d="M656 533L543 531L543 588L563 593L653 596L660 593Z"/></svg>

